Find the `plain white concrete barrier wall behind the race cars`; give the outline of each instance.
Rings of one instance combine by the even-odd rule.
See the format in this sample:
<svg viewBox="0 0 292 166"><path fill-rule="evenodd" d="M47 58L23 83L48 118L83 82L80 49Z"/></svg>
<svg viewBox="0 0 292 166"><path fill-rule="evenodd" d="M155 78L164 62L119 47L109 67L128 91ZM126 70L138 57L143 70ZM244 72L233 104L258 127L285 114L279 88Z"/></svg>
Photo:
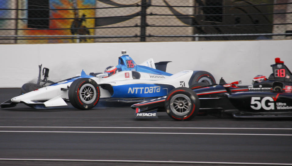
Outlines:
<svg viewBox="0 0 292 166"><path fill-rule="evenodd" d="M292 70L292 40L280 41L199 41L92 44L2 44L0 45L0 87L21 87L35 82L38 65L50 69L49 79L59 81L81 70L103 72L117 65L121 50L139 64L149 58L172 61L167 72L205 70L216 81L242 80L250 84L258 74L269 76L271 64L279 57Z"/></svg>

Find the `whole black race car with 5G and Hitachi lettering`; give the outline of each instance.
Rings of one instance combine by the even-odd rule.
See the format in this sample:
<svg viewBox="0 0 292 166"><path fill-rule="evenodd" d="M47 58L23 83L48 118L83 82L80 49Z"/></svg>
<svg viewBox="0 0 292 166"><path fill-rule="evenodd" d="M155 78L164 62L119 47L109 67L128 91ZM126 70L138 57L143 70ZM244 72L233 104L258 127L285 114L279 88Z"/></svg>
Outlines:
<svg viewBox="0 0 292 166"><path fill-rule="evenodd" d="M239 86L241 81L206 86L195 83L190 88L179 87L167 96L133 104L135 118L158 118L157 111L165 111L175 120L190 120L195 115L234 118L292 117L292 73L280 58L271 65L268 79L251 86ZM262 80L260 80L262 79Z"/></svg>

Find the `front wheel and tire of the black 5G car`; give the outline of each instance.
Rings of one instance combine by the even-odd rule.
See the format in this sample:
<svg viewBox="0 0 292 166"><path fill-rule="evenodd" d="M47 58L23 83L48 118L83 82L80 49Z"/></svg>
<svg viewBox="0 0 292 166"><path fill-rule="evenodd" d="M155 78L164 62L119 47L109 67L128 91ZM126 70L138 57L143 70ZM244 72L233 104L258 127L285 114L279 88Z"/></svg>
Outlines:
<svg viewBox="0 0 292 166"><path fill-rule="evenodd" d="M178 121L188 121L197 115L200 101L197 94L186 87L171 90L165 100L167 114Z"/></svg>

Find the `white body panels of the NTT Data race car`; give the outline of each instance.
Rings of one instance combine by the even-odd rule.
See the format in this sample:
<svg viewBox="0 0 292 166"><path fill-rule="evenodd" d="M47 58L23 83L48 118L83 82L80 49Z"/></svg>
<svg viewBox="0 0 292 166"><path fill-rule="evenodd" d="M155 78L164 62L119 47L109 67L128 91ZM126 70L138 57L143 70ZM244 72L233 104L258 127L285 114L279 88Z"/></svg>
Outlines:
<svg viewBox="0 0 292 166"><path fill-rule="evenodd" d="M150 59L151 60L151 59ZM148 60L149 61L149 60ZM153 59L152 59L153 61ZM146 61L147 62L147 61ZM145 65L145 64L144 64ZM110 84L111 86L126 85L126 84L169 84L176 87L188 87L188 81L190 80L193 71L185 70L178 72L172 76L164 76L159 74L150 74L145 72L139 72L140 79L133 79L131 71L121 71L107 78L103 78L104 74L99 74L97 77L90 77L97 82L100 87L100 98L111 97L108 90L101 87L102 84ZM81 77L73 78L78 79ZM46 86L29 93L13 97L11 101L13 103L25 103L29 104L44 104L45 107L57 107L67 106L65 101L69 100L68 87L71 82L61 81L53 86ZM184 82L185 84L181 84ZM63 90L61 90L61 88Z"/></svg>

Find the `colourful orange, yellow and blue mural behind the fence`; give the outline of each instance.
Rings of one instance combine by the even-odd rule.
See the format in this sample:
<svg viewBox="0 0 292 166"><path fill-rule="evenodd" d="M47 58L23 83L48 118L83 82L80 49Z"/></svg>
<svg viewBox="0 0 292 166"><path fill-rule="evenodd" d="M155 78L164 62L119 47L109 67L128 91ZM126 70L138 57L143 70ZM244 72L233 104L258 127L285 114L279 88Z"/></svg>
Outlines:
<svg viewBox="0 0 292 166"><path fill-rule="evenodd" d="M33 6L33 0L27 0L28 9L30 6ZM35 3L44 3L44 1L34 1ZM77 8L94 8L95 0L47 0L48 4L38 4L38 5L48 5L48 9L77 9ZM39 9L39 7L38 7ZM84 19L85 17L94 17L95 10L42 10L42 14L46 14L44 12L48 12L50 20L48 21L48 25L44 25L44 22L40 20L36 20L33 24L40 24L37 27L37 30L32 30L35 28L30 28L31 24L29 24L26 20L18 21L19 29L31 29L31 30L18 30L18 35L93 35L93 29L71 29L71 28L86 28L94 26L94 19ZM37 16L32 17L37 18ZM27 15L30 18L30 13ZM79 19L53 19L53 18L79 18ZM38 21L38 22L37 22ZM40 26L44 26L42 28ZM65 30L59 30L60 28L67 28ZM51 30L56 29L56 30ZM44 37L46 38L46 37ZM19 40L18 43L74 43L77 42L77 39L46 39L46 40ZM92 39L80 39L78 42L93 42Z"/></svg>

